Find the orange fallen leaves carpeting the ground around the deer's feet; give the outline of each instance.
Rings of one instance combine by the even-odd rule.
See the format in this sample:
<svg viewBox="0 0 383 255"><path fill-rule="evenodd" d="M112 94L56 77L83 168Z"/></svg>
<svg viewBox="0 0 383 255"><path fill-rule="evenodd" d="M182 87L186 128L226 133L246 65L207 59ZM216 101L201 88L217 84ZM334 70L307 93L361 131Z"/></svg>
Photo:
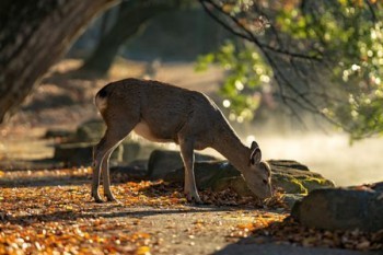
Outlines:
<svg viewBox="0 0 383 255"><path fill-rule="evenodd" d="M142 232L140 219L130 217L131 207L187 211L181 185L163 181L126 179L114 176L113 192L119 204L95 204L90 196L90 167L1 171L0 179L0 254L152 254L162 251L164 237L158 232ZM51 178L66 179L49 185ZM383 231L323 231L306 229L294 222L282 202L281 194L266 205L235 192L201 190L205 204L214 208L231 207L235 213L229 227L222 221L198 219L185 230L189 245L213 227L222 228L229 243L288 243L350 250L382 250ZM251 212L249 212L251 211ZM135 216L132 216L135 217ZM151 224L154 224L152 222ZM175 231L174 222L161 231ZM150 224L150 222L146 222ZM212 225L213 224L213 225ZM174 233L173 235L176 235ZM247 239L244 239L247 237ZM172 245L172 244L171 244ZM166 251L166 250L165 250Z"/></svg>

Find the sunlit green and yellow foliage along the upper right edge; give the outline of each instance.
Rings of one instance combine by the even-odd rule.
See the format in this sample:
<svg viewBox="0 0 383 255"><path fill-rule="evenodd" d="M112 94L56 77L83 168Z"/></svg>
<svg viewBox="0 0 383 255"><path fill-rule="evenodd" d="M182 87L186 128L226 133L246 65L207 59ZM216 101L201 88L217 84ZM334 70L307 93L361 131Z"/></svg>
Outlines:
<svg viewBox="0 0 383 255"><path fill-rule="evenodd" d="M300 13L306 37L322 42L324 55L334 63L333 80L344 92L344 102L333 102L326 115L361 139L383 134L383 12L376 9L375 20L365 2L338 1L322 15ZM291 24L294 24L291 22ZM293 36L304 34L301 27L286 27Z"/></svg>

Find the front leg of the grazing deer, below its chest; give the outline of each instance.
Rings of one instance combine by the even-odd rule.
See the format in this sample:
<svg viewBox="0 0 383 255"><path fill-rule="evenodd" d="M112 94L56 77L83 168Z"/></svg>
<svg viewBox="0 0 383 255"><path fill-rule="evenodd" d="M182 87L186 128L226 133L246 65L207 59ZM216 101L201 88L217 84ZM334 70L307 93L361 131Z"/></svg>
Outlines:
<svg viewBox="0 0 383 255"><path fill-rule="evenodd" d="M202 204L196 186L194 176L194 140L188 138L179 139L181 155L185 166L184 193L188 201Z"/></svg>

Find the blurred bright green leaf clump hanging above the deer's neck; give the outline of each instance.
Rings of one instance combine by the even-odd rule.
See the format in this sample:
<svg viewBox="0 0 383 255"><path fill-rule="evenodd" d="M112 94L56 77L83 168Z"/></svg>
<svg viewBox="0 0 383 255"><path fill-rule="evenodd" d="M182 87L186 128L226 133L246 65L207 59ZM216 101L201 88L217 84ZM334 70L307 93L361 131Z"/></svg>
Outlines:
<svg viewBox="0 0 383 255"><path fill-rule="evenodd" d="M252 119L260 103L260 92L271 80L271 69L253 45L229 40L216 53L199 56L196 70L204 71L213 62L227 72L220 94L223 107L230 108L230 119L240 123Z"/></svg>

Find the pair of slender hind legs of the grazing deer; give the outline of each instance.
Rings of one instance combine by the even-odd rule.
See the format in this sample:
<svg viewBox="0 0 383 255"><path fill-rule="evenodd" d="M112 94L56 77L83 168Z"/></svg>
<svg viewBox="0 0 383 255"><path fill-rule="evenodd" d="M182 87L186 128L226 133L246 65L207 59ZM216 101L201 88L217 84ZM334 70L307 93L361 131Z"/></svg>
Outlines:
<svg viewBox="0 0 383 255"><path fill-rule="evenodd" d="M104 194L108 201L115 201L111 190L109 179L109 157L112 152L118 147L124 138L135 128L138 121L131 123L113 123L108 125L104 137L98 144L93 149L93 181L92 181L92 197L96 202L103 202L98 193L101 173L103 174Z"/></svg>

